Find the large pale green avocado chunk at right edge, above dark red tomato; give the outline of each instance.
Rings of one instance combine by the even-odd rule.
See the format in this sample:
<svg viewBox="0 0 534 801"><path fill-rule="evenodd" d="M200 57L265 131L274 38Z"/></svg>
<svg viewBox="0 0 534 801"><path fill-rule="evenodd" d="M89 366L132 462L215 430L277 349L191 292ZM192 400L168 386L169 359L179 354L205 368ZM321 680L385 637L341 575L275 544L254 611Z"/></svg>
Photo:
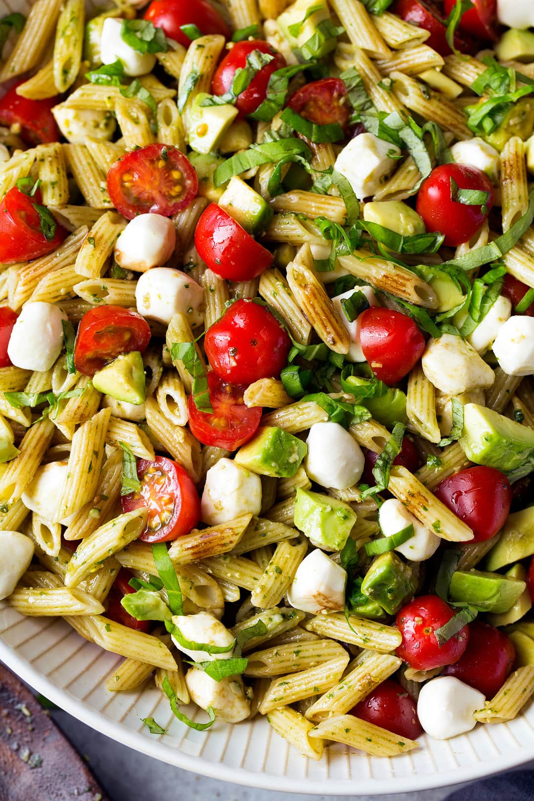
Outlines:
<svg viewBox="0 0 534 801"><path fill-rule="evenodd" d="M512 481L534 468L534 430L486 406L464 406L464 431L459 442L470 461L495 467Z"/></svg>

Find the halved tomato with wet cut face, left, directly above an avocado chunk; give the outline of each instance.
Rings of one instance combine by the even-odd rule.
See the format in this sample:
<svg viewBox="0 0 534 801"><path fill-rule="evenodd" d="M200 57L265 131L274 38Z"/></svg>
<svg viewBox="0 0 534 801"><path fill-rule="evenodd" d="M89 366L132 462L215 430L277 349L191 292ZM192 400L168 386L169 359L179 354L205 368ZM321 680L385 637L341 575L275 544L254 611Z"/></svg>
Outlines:
<svg viewBox="0 0 534 801"><path fill-rule="evenodd" d="M120 353L143 353L151 340L147 321L122 306L95 306L82 316L74 343L74 364L84 376L94 376Z"/></svg>

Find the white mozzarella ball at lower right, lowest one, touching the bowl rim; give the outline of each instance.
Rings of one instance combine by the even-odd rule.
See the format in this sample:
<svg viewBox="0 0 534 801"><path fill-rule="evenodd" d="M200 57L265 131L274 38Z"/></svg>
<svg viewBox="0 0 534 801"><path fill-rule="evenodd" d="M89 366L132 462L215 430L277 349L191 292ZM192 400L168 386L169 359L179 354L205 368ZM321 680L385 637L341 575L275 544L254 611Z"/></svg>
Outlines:
<svg viewBox="0 0 534 801"><path fill-rule="evenodd" d="M428 735L436 740L464 735L476 726L473 714L486 698L454 676L432 678L421 687L417 716Z"/></svg>

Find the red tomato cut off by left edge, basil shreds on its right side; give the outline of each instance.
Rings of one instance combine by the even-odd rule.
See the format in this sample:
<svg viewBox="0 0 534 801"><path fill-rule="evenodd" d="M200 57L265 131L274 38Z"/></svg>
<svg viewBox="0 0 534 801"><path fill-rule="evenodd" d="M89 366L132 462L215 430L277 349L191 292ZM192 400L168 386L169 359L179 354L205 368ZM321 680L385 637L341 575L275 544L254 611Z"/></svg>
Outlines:
<svg viewBox="0 0 534 801"><path fill-rule="evenodd" d="M65 239L66 230L58 223L52 239L46 239L35 203L41 204L38 191L30 198L13 187L4 196L0 203L0 263L38 259L54 251Z"/></svg>

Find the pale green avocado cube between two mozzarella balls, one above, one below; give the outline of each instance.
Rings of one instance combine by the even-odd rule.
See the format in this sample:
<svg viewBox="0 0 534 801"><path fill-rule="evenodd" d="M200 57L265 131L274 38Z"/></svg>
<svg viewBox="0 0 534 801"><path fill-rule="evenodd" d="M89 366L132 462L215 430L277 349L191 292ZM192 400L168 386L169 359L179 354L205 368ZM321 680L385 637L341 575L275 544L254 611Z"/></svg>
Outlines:
<svg viewBox="0 0 534 801"><path fill-rule="evenodd" d="M356 521L356 513L343 501L299 488L293 520L312 545L332 551L341 550L347 542Z"/></svg>

